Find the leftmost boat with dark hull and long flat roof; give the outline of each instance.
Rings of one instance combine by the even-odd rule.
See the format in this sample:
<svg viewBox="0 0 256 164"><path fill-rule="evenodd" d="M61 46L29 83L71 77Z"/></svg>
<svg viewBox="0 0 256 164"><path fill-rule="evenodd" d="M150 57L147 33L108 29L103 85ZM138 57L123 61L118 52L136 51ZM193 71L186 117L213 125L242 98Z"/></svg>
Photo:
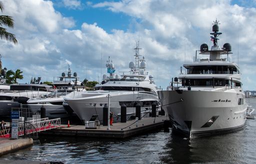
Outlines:
<svg viewBox="0 0 256 164"><path fill-rule="evenodd" d="M10 89L0 92L0 116L9 116L11 108L20 107L32 97L43 97L51 86L45 84L10 84Z"/></svg>

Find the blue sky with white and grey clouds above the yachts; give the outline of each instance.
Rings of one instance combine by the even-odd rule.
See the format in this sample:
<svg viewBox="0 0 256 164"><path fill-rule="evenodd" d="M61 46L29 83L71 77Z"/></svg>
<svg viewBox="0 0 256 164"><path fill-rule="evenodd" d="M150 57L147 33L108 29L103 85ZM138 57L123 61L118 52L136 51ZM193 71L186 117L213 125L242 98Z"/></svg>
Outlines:
<svg viewBox="0 0 256 164"><path fill-rule="evenodd" d="M255 90L255 0L2 0L12 15L18 44L0 40L3 66L24 79L53 76L67 64L81 80L98 80L110 56L117 71L128 69L136 41L157 86L166 88L179 67L192 62L201 43L211 45L211 23L220 21L219 44L229 42L244 89ZM186 57L185 57L186 56Z"/></svg>

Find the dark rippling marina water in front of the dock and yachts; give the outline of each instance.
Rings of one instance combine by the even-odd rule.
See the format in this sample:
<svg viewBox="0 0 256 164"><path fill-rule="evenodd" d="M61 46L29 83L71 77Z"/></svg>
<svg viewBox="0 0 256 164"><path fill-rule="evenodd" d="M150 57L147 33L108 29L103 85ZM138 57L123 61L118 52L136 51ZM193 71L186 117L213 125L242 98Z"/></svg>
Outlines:
<svg viewBox="0 0 256 164"><path fill-rule="evenodd" d="M256 108L256 98L247 98ZM255 163L256 120L242 130L183 138L163 130L128 139L40 137L32 147L6 154L5 160L47 160L64 163Z"/></svg>

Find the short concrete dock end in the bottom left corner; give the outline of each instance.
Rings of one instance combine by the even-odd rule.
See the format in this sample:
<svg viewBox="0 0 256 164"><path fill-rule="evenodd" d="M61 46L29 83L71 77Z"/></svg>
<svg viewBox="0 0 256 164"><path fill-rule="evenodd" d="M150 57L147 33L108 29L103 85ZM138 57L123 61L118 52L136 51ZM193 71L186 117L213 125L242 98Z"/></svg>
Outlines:
<svg viewBox="0 0 256 164"><path fill-rule="evenodd" d="M32 138L9 139L0 138L0 155L13 152L33 144Z"/></svg>

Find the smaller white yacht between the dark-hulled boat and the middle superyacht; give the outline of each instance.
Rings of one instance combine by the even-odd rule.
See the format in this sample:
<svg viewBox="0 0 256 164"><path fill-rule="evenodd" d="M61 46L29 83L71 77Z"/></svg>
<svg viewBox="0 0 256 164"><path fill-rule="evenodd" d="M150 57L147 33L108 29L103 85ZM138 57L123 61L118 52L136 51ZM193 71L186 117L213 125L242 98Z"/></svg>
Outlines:
<svg viewBox="0 0 256 164"><path fill-rule="evenodd" d="M77 90L85 90L83 83L79 81L77 73L72 75L72 69L68 65L67 76L64 72L61 76L53 77L53 90L44 97L33 97L27 100L27 106L32 113L39 113L40 108L45 108L45 114L48 118L68 118L73 116L73 110L70 106L64 103L64 96Z"/></svg>

